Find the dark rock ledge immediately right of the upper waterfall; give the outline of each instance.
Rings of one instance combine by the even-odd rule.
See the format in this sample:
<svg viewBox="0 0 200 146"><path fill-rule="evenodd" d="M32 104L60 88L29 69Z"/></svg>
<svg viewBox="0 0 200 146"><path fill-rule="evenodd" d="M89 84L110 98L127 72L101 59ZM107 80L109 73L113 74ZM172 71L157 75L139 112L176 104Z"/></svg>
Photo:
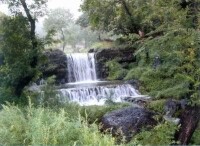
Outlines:
<svg viewBox="0 0 200 146"><path fill-rule="evenodd" d="M106 79L108 77L108 68L106 67L106 62L109 60L117 59L123 68L127 68L130 63L136 61L133 53L133 48L126 49L102 49L95 51L91 49L89 52L96 53L96 68L98 79Z"/></svg>

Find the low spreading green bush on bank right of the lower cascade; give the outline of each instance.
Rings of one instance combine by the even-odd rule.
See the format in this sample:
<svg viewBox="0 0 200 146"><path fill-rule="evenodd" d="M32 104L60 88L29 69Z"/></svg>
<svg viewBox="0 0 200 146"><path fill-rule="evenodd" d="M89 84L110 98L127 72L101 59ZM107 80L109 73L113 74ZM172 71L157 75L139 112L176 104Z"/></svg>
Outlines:
<svg viewBox="0 0 200 146"><path fill-rule="evenodd" d="M187 82L180 77L173 77L173 69L163 65L158 69L150 66L136 67L131 69L125 80L138 79L141 82L140 91L149 94L156 99L176 98L185 96L188 90Z"/></svg>

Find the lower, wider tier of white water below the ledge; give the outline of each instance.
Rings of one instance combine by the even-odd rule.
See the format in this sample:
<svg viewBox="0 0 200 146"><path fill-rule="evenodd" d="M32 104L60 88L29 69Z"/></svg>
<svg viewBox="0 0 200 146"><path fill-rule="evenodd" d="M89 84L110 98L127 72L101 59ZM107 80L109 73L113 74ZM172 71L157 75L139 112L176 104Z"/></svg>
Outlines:
<svg viewBox="0 0 200 146"><path fill-rule="evenodd" d="M129 84L69 88L60 90L62 102L74 101L81 105L103 105L106 100L121 102L122 97L136 96L138 92Z"/></svg>

